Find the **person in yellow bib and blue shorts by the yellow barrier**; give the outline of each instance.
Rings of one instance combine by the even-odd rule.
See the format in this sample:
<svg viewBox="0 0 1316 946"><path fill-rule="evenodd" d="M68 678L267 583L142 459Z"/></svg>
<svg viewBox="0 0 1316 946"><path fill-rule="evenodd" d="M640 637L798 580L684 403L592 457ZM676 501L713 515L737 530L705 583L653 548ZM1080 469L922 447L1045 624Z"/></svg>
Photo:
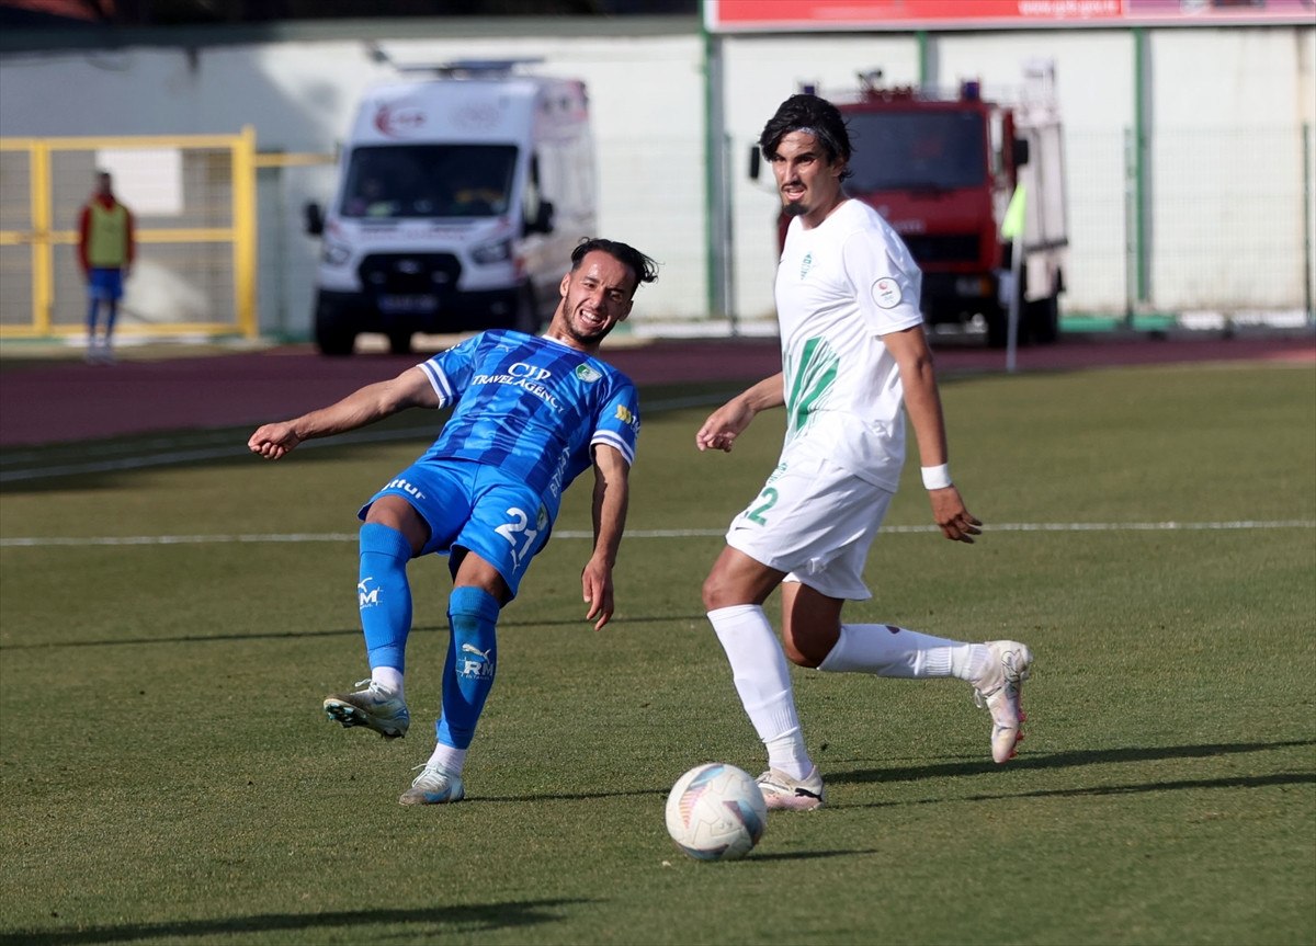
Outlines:
<svg viewBox="0 0 1316 946"><path fill-rule="evenodd" d="M87 278L87 361L114 361L114 320L124 280L133 266L133 214L114 196L108 171L96 174L96 192L82 209L78 222L78 262ZM105 304L105 328L97 339L100 305Z"/></svg>

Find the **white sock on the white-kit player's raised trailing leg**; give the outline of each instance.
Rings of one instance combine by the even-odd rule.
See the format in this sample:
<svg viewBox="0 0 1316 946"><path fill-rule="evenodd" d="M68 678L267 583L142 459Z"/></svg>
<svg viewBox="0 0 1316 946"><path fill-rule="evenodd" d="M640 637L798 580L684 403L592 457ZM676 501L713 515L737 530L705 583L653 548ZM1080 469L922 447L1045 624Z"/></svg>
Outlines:
<svg viewBox="0 0 1316 946"><path fill-rule="evenodd" d="M948 641L894 624L842 624L841 635L819 670L905 679L954 676L974 680L990 662L991 651L980 643Z"/></svg>

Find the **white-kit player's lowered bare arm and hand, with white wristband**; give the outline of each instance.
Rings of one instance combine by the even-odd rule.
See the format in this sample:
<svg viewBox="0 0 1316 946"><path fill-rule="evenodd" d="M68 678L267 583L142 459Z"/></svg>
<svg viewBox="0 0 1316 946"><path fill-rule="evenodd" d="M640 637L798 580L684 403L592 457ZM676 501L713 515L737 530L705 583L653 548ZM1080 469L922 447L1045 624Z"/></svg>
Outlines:
<svg viewBox="0 0 1316 946"><path fill-rule="evenodd" d="M905 411L919 439L919 462L924 467L946 464L946 422L941 412L932 350L923 326L892 332L883 336L882 341L900 366ZM932 517L946 538L973 545L974 535L982 534L982 522L965 508L965 500L953 483L928 489L928 501L932 503Z"/></svg>

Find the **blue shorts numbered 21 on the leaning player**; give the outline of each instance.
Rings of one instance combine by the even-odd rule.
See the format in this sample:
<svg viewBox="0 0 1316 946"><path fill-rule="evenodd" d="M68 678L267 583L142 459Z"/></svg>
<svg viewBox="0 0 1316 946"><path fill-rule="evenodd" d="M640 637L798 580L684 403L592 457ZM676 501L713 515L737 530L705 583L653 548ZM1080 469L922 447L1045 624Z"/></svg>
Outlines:
<svg viewBox="0 0 1316 946"><path fill-rule="evenodd" d="M497 568L513 597L553 526L540 493L483 463L413 463L371 496L357 517L365 520L380 496L401 496L429 525L421 555L474 551ZM457 555L449 563L454 575L459 562Z"/></svg>

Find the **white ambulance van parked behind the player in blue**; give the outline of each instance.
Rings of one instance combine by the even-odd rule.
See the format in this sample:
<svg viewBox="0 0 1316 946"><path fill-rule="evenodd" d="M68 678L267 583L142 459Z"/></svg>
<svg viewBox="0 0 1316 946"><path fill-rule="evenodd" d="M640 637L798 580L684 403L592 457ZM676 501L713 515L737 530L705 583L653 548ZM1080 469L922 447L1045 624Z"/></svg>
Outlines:
<svg viewBox="0 0 1316 946"><path fill-rule="evenodd" d="M322 238L315 338L351 354L362 332L537 333L582 237L595 236L584 84L463 62L371 89L338 189L307 230Z"/></svg>

